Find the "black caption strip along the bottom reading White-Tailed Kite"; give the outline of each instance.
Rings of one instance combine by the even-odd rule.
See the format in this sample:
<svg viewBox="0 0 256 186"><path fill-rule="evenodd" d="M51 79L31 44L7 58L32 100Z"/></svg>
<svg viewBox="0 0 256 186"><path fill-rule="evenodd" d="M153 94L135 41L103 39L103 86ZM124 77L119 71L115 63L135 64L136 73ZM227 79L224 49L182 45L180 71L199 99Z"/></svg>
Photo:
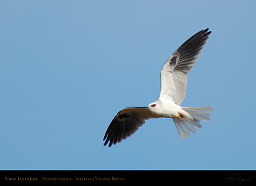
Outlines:
<svg viewBox="0 0 256 186"><path fill-rule="evenodd" d="M0 170L7 184L254 184L255 170Z"/></svg>

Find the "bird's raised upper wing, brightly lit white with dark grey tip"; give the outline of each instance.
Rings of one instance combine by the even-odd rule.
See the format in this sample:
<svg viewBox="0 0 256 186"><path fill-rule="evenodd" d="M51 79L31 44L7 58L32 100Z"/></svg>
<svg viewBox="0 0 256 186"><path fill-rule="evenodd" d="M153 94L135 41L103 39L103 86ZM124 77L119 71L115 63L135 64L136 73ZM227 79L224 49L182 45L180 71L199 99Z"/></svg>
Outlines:
<svg viewBox="0 0 256 186"><path fill-rule="evenodd" d="M187 75L194 66L211 31L204 29L190 37L164 63L161 69L160 98L180 105L186 95Z"/></svg>

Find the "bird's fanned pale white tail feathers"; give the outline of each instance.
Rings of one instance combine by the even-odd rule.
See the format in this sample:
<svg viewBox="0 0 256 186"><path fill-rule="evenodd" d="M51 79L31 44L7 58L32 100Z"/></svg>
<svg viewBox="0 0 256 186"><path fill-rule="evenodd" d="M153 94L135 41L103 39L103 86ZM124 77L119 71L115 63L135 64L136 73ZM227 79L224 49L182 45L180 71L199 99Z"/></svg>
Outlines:
<svg viewBox="0 0 256 186"><path fill-rule="evenodd" d="M205 112L214 110L212 107L182 107L182 109L193 117L193 120L189 121L184 120L183 118L173 118L173 122L175 123L182 140L185 137L190 137L190 132L195 133L196 128L202 127L199 122L210 120L211 114Z"/></svg>

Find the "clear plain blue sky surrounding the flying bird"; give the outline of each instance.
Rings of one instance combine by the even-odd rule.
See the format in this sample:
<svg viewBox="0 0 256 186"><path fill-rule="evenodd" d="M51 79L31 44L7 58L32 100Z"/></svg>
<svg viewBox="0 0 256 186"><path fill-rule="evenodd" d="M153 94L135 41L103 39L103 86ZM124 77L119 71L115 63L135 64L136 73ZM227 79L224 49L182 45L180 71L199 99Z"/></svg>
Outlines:
<svg viewBox="0 0 256 186"><path fill-rule="evenodd" d="M255 170L256 1L0 1L1 170ZM181 140L147 120L103 146L122 108L158 99L160 69L201 29Z"/></svg>

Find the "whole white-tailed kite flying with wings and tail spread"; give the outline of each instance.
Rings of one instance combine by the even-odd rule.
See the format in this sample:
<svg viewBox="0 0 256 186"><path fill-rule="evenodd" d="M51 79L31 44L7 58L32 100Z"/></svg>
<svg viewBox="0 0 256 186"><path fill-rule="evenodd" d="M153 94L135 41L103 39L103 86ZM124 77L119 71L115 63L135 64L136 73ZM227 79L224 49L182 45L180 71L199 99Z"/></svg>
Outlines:
<svg viewBox="0 0 256 186"><path fill-rule="evenodd" d="M105 133L104 146L130 137L145 123L145 120L159 117L173 119L181 139L190 137L201 121L210 120L212 107L181 107L186 95L187 75L195 65L211 31L201 30L181 45L164 63L161 71L161 90L157 101L148 107L127 107L116 114ZM196 128L195 128L196 127Z"/></svg>

